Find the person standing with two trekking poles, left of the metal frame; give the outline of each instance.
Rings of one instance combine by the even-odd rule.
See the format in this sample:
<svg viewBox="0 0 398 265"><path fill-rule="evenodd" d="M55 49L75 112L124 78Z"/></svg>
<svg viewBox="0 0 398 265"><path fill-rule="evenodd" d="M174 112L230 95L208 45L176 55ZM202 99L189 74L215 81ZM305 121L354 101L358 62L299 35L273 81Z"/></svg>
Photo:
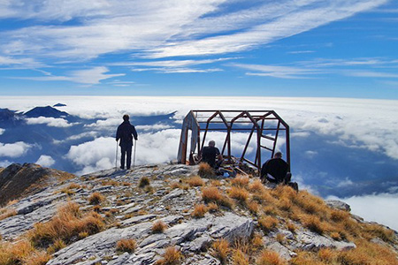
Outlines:
<svg viewBox="0 0 398 265"><path fill-rule="evenodd" d="M131 166L131 151L133 149L133 137L138 140L137 131L135 131L134 125L130 124L130 117L128 115L123 116L123 123L119 125L116 131L116 141L120 140L119 147L121 149L120 157L120 169L125 169L125 159L126 168L130 169Z"/></svg>

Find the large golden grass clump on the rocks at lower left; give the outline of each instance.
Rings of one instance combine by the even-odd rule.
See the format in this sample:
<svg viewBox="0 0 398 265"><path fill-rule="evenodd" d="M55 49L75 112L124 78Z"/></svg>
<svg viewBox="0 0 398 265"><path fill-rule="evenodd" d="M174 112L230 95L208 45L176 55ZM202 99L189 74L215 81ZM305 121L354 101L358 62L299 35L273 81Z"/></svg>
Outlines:
<svg viewBox="0 0 398 265"><path fill-rule="evenodd" d="M68 244L78 238L80 232L92 235L102 231L103 227L103 219L96 212L83 216L77 203L68 202L58 208L57 215L49 222L35 223L34 229L27 232L27 238L40 247L50 246L57 239Z"/></svg>

